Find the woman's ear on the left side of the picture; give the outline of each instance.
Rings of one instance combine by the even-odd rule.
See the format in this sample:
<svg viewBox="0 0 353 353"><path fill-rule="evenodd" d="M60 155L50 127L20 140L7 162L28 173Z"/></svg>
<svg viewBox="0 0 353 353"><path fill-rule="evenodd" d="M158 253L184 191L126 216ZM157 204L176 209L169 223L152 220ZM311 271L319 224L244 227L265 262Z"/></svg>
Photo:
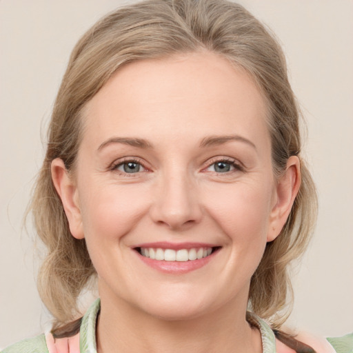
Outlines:
<svg viewBox="0 0 353 353"><path fill-rule="evenodd" d="M83 226L81 209L79 207L79 194L62 159L54 159L51 165L52 181L63 203L66 217L70 226L70 232L76 239L83 239Z"/></svg>

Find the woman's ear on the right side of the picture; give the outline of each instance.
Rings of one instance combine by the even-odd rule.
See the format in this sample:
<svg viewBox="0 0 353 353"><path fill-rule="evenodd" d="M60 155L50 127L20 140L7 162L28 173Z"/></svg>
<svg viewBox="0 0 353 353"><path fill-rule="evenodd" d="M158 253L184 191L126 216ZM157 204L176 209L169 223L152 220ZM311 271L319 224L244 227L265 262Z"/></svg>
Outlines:
<svg viewBox="0 0 353 353"><path fill-rule="evenodd" d="M301 185L300 161L296 156L288 159L284 174L277 181L274 194L274 205L270 214L267 241L279 236L288 219L292 205Z"/></svg>

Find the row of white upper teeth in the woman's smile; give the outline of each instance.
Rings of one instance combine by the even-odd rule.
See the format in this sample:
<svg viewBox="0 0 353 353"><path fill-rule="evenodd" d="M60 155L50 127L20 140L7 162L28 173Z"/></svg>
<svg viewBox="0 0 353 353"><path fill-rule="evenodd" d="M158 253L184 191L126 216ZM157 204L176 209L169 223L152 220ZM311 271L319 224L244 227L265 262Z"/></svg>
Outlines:
<svg viewBox="0 0 353 353"><path fill-rule="evenodd" d="M212 253L212 248L192 248L192 249L161 249L161 248L140 248L142 256L159 261L192 261L203 259Z"/></svg>

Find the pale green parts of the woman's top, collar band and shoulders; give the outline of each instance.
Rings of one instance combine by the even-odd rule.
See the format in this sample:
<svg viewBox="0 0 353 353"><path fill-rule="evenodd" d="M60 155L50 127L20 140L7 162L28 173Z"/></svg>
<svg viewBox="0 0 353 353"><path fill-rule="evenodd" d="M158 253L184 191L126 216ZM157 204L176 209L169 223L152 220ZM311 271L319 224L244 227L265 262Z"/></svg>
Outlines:
<svg viewBox="0 0 353 353"><path fill-rule="evenodd" d="M96 345L96 322L101 301L97 299L90 306L83 316L80 328L80 352L81 353L97 353ZM265 323L259 316L248 313L248 321L259 327L263 345L263 353L276 353L276 341L274 333L270 326ZM334 347L336 353L353 353L353 333L339 338L329 338L327 341ZM44 334L34 337L33 339L25 339L10 347L5 348L0 353L49 353L46 345ZM320 352L318 352L320 353Z"/></svg>

